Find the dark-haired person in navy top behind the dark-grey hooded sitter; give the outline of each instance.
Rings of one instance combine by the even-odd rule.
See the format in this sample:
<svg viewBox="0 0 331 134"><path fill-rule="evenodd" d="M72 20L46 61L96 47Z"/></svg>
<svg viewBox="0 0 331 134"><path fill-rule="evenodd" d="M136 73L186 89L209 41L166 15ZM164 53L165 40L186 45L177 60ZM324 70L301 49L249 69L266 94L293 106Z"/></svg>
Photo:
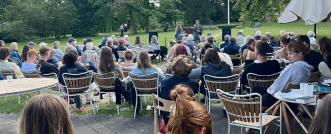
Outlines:
<svg viewBox="0 0 331 134"><path fill-rule="evenodd" d="M236 55L239 53L240 46L236 44L236 38L235 37L230 37L229 38L230 44L224 47L223 53L229 54L229 55ZM240 65L240 60L235 59L232 60L232 64L234 66L239 66Z"/></svg>

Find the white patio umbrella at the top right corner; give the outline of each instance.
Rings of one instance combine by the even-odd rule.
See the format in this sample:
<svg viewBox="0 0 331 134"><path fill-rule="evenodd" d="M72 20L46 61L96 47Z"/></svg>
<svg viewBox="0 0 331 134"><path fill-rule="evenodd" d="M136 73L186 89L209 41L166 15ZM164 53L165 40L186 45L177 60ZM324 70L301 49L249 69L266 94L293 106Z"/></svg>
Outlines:
<svg viewBox="0 0 331 134"><path fill-rule="evenodd" d="M331 16L331 0L291 0L278 23L289 23L302 19L306 25L314 25L316 33L316 23L328 21Z"/></svg>

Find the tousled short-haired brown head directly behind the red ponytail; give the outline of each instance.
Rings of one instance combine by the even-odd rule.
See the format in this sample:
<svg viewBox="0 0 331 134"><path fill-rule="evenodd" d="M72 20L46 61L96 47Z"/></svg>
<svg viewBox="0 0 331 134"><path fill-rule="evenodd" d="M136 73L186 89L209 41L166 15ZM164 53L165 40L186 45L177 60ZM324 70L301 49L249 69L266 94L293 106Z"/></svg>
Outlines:
<svg viewBox="0 0 331 134"><path fill-rule="evenodd" d="M174 58L170 67L174 76L188 77L193 65L187 55L179 55Z"/></svg>

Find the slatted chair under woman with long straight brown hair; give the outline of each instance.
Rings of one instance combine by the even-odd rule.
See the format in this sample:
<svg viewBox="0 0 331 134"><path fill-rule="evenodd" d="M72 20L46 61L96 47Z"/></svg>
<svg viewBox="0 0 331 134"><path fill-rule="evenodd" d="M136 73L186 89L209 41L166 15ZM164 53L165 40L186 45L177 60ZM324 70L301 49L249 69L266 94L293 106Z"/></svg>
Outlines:
<svg viewBox="0 0 331 134"><path fill-rule="evenodd" d="M101 93L109 93L109 100L110 99L110 93L115 94L115 80L116 80L116 75L114 72L109 72L105 74L100 74L100 73L93 73L94 80L99 86L99 101L97 103L97 112L99 111L99 104L101 100ZM119 114L119 105L117 105L117 114Z"/></svg>

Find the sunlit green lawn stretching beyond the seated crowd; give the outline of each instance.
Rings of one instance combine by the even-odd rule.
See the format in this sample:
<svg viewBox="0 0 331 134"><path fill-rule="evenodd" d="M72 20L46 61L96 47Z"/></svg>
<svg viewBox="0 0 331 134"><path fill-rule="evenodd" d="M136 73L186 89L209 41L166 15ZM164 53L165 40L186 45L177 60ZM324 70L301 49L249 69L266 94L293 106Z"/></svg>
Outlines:
<svg viewBox="0 0 331 134"><path fill-rule="evenodd" d="M297 21L297 22L293 22L293 23L287 23L287 24L277 24L277 23L266 23L266 22L261 22L262 27L257 28L259 29L262 34L264 34L265 32L271 32L272 35L275 35L276 38L279 35L279 32L281 30L285 30L287 32L294 32L295 34L298 33L307 33L308 31L314 31L314 25L305 25L305 23L303 21ZM217 25L213 25L213 26L217 26ZM192 26L183 26L183 28L189 28ZM255 28L249 28L249 27L245 27L242 30L244 30L244 34L245 35L252 35L253 34L253 30ZM317 24L317 38L320 38L322 36L331 36L331 32L329 31L331 29L331 22L321 22ZM236 33L239 32L239 30L241 29L232 29L232 35L236 36ZM151 32L158 32L158 40L159 40L159 44L162 46L166 46L168 47L168 42L170 39L175 39L175 28L169 28L168 32L166 32L165 36L166 36L166 42L164 40L164 32L163 29L158 29L158 30L151 30ZM203 31L204 34L207 34L207 32L211 32L212 35L216 38L216 42L220 43L222 42L222 30L218 29L218 30L205 30ZM144 33L144 31L140 31L138 32L138 34L132 34L132 31L129 31L129 42L131 44L134 44L135 42L135 37L137 35L141 36L141 40L145 45L148 45L148 33ZM120 39L119 35L120 33L99 33L98 36L94 36L92 37L94 39L94 45L97 46L99 44L101 44L102 38L105 37L106 35L111 35L114 34L117 36L117 40ZM87 38L87 37L84 37ZM78 45L83 44L83 39L84 38L76 38L78 41ZM64 47L66 46L66 42L67 42L68 38L61 38L60 44L61 44L61 50L64 50ZM48 46L52 46L52 43L55 41L55 38L50 37L50 38L42 38L42 39L36 39L36 40L32 40L34 41L37 45L35 46L35 49L39 49L39 43L41 42L46 42ZM26 42L19 42L19 52L22 51L23 49L23 45L27 44L28 41ZM6 47L9 47L10 42L6 42Z"/></svg>

